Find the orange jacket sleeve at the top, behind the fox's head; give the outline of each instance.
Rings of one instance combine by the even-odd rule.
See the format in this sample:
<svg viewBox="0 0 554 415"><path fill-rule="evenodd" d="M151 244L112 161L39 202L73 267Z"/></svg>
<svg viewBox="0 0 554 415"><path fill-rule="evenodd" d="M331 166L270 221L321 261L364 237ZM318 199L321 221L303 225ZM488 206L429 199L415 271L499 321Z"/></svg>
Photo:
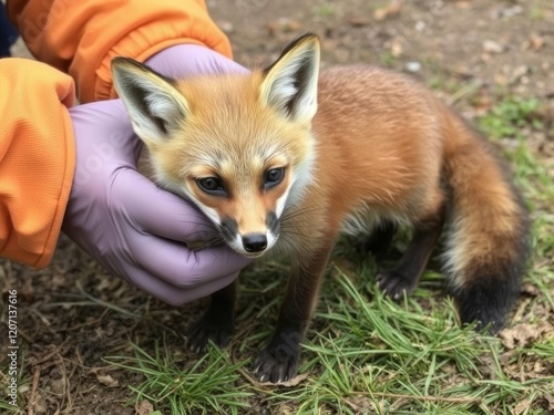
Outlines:
<svg viewBox="0 0 554 415"><path fill-rule="evenodd" d="M110 62L116 55L144 61L197 43L230 58L204 0L8 0L7 7L31 53L69 73L82 103L115 96Z"/></svg>

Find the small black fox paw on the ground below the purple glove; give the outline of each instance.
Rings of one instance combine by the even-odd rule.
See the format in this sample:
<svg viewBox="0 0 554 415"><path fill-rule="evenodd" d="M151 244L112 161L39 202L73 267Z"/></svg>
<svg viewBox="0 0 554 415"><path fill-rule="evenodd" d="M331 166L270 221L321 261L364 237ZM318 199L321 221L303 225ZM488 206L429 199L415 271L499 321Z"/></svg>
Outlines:
<svg viewBox="0 0 554 415"><path fill-rule="evenodd" d="M229 342L234 328L233 320L215 320L205 314L188 330L188 347L195 353L204 353L211 340L224 347Z"/></svg>

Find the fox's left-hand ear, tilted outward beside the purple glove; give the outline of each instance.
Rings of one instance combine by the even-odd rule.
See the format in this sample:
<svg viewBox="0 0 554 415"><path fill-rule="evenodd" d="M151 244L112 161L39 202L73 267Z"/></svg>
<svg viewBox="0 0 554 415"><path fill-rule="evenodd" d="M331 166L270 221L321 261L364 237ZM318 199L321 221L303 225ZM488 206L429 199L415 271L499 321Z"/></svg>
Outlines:
<svg viewBox="0 0 554 415"><path fill-rule="evenodd" d="M112 75L134 132L146 144L168 138L188 115L188 103L173 85L174 81L142 63L114 58Z"/></svg>

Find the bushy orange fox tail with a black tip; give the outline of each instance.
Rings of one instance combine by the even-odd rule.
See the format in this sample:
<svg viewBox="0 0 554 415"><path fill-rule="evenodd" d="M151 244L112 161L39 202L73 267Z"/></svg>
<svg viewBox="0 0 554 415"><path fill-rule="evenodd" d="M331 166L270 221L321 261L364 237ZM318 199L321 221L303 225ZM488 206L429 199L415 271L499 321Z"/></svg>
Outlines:
<svg viewBox="0 0 554 415"><path fill-rule="evenodd" d="M443 253L462 323L494 333L515 302L529 257L529 214L491 144L454 114L444 173L451 206Z"/></svg>

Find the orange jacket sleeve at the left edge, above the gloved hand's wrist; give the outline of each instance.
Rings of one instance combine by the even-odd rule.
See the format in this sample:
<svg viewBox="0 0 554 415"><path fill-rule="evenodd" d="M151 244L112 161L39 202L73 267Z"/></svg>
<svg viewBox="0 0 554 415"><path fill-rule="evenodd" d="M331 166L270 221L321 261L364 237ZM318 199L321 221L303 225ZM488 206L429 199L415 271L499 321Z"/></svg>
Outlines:
<svg viewBox="0 0 554 415"><path fill-rule="evenodd" d="M42 268L73 180L73 81L39 62L1 59L0 91L0 256Z"/></svg>

